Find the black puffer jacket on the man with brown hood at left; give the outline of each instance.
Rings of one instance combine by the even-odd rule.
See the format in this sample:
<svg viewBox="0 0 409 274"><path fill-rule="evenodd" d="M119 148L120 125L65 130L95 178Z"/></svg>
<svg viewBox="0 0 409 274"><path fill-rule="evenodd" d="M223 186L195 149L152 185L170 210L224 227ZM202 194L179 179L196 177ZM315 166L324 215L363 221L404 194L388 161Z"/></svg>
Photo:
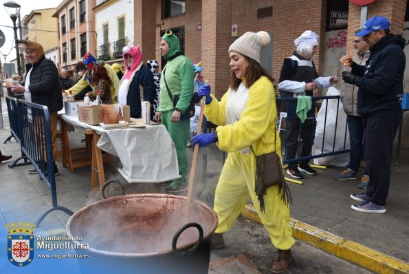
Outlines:
<svg viewBox="0 0 409 274"><path fill-rule="evenodd" d="M30 73L30 85L28 89L31 92L33 103L46 105L49 112L58 112L63 108L63 95L58 83L58 70L53 61L41 56L33 65L25 65Z"/></svg>

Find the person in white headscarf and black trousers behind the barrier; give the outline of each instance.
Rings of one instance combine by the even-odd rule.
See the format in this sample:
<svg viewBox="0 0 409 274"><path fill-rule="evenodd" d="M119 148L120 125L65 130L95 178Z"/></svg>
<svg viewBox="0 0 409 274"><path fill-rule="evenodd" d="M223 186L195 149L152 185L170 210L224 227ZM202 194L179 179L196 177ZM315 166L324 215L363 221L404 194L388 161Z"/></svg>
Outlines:
<svg viewBox="0 0 409 274"><path fill-rule="evenodd" d="M296 52L291 57L284 59L283 67L281 68L280 83L278 83L281 97L314 96L313 92L317 88L329 87L334 83L338 83L337 76L318 76L316 66L312 61L313 55L318 52L318 39L319 37L315 32L306 30L300 37L294 40L294 45L297 48ZM302 99L298 98L298 101L300 100ZM288 104L288 107L287 103L281 105L281 112L287 113L285 160L296 158L300 127L302 146L299 149L299 157L307 157L311 154L315 124L314 111L314 107L311 107L307 118L301 121L296 116L295 104ZM301 172L316 175L317 171L312 169L308 162L309 160L303 160L289 163L287 174L293 178L302 178Z"/></svg>

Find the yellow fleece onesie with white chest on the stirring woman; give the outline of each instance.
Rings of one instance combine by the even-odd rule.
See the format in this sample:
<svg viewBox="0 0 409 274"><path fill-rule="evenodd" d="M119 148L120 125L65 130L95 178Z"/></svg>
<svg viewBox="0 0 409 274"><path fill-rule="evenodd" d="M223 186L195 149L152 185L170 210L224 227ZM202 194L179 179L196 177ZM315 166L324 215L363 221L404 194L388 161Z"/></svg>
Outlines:
<svg viewBox="0 0 409 274"><path fill-rule="evenodd" d="M217 146L229 152L214 199L214 211L219 218L215 232L230 230L247 200L252 198L272 244L277 249L287 250L295 243L289 224L289 207L281 199L276 185L267 189L265 211L260 211L254 191L256 158L250 150L252 145L256 155L272 151L281 155L280 140L275 140L277 110L274 87L265 76L261 76L250 89L246 89L244 83L243 78L241 87L237 91L229 89L220 102L213 96L204 110L206 118L218 125ZM243 96L238 99L233 93L243 92L243 89L247 98L244 96L245 105L240 109L241 102L236 101L243 100ZM239 105L239 111L232 107L234 104Z"/></svg>

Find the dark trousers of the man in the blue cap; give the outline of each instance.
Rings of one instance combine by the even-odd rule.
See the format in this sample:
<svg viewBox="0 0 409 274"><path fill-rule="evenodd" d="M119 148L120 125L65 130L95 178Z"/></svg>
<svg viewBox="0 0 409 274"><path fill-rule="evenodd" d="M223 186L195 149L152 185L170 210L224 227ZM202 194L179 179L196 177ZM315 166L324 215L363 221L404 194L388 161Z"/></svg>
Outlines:
<svg viewBox="0 0 409 274"><path fill-rule="evenodd" d="M365 128L365 160L369 184L366 195L372 202L385 205L390 182L393 140L401 124L402 114L362 118Z"/></svg>

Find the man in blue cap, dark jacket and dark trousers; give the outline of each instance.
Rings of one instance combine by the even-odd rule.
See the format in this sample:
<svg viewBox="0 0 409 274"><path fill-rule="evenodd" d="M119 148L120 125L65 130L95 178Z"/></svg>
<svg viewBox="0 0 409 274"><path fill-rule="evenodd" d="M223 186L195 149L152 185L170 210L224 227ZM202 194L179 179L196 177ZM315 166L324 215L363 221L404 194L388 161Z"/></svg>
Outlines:
<svg viewBox="0 0 409 274"><path fill-rule="evenodd" d="M404 90L405 39L390 34L389 28L385 17L368 19L356 35L366 41L371 55L366 65L350 61L352 73L342 72L346 83L359 87L357 111L366 131L365 160L371 180L366 193L351 194L362 202L351 208L366 213L386 212L393 139L402 119L398 96Z"/></svg>

